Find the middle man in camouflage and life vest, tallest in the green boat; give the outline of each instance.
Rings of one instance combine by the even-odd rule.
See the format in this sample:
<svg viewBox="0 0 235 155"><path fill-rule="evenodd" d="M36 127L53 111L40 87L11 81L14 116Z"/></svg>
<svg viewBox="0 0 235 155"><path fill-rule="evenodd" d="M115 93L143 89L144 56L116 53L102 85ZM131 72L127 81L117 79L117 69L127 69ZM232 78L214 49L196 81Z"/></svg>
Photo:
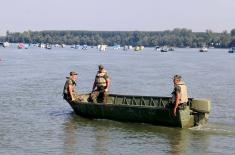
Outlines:
<svg viewBox="0 0 235 155"><path fill-rule="evenodd" d="M103 65L99 65L98 68L99 70L95 76L92 93L90 95L90 102L107 103L110 79Z"/></svg>

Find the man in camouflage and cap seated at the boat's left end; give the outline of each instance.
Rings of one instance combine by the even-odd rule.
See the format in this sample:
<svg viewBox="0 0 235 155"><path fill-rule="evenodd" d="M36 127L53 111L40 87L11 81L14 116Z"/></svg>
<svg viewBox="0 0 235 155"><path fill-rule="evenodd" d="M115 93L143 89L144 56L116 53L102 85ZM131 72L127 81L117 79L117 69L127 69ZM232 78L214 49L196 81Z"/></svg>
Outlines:
<svg viewBox="0 0 235 155"><path fill-rule="evenodd" d="M63 96L64 99L68 102L70 101L83 101L83 97L78 94L76 91L76 80L77 80L77 73L72 71L70 72L70 76L66 77L67 80L64 84Z"/></svg>

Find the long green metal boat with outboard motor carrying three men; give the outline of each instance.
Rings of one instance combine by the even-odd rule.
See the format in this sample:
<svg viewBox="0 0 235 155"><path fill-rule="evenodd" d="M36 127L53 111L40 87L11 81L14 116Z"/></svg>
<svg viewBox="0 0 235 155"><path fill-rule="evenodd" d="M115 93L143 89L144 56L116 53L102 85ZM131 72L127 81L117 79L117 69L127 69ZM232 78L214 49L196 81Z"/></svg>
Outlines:
<svg viewBox="0 0 235 155"><path fill-rule="evenodd" d="M83 117L180 128L206 124L211 109L210 101L189 98L173 116L171 97L109 94L107 103L91 103L87 101L89 94L83 96L86 102L69 102L74 112Z"/></svg>

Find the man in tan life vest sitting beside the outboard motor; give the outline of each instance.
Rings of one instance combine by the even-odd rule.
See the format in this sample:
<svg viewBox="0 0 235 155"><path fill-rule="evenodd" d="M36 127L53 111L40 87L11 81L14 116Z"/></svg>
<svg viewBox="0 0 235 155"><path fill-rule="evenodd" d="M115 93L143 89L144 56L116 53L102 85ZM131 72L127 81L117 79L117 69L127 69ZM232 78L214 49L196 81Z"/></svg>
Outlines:
<svg viewBox="0 0 235 155"><path fill-rule="evenodd" d="M185 106L188 102L188 92L187 86L182 81L182 77L180 75L175 75L173 78L174 90L172 94L172 102L173 102L173 114L176 116L176 110L179 106Z"/></svg>

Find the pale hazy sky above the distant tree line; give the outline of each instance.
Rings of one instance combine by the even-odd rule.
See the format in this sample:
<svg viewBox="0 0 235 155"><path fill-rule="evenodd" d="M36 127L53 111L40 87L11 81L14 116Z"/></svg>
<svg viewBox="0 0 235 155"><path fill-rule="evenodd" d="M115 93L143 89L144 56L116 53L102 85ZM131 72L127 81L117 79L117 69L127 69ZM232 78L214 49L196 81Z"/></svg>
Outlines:
<svg viewBox="0 0 235 155"><path fill-rule="evenodd" d="M0 0L0 35L41 30L222 32L235 0Z"/></svg>

